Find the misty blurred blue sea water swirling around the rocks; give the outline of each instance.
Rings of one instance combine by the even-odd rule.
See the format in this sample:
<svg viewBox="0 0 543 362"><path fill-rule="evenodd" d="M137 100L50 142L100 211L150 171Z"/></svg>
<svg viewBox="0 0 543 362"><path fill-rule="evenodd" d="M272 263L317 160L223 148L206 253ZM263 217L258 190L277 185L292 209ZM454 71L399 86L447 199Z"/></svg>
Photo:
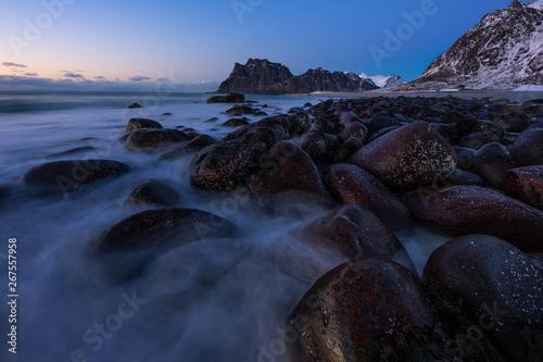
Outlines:
<svg viewBox="0 0 543 362"><path fill-rule="evenodd" d="M156 154L132 153L118 142L130 117L149 117L165 128L190 127L222 138L231 104L207 104L202 93L0 93L0 361L285 361L285 321L310 288L277 271L266 247L300 219L265 214L247 196L191 187L192 155L156 163ZM249 96L268 115L316 103L318 97ZM127 109L138 102L142 109ZM163 115L164 113L172 115ZM204 122L218 117L215 122ZM251 121L261 117L250 116ZM78 147L91 151L48 158ZM50 200L20 189L30 167L55 160L110 159L131 172L77 198ZM89 246L116 222L138 212L123 208L134 188L159 178L176 188L180 205L228 219L245 230L253 248L227 267L194 303L169 310L164 296L201 288L199 276L224 265L228 254L213 245L173 250L155 269L124 285L97 273ZM17 354L8 352L10 309L8 251L17 240ZM401 237L418 271L446 237L418 228ZM179 271L181 270L181 271ZM187 272L189 271L189 272ZM182 297L182 296L181 296ZM179 297L180 298L180 297ZM8 347L7 347L8 346Z"/></svg>

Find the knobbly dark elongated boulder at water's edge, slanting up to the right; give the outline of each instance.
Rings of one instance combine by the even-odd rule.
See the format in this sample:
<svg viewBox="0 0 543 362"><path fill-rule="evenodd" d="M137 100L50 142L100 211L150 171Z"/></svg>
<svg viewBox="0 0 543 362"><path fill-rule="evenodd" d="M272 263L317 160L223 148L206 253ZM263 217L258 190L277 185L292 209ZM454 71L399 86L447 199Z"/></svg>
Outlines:
<svg viewBox="0 0 543 362"><path fill-rule="evenodd" d="M290 123L277 116L244 126L198 152L190 183L200 188L232 190L244 185L269 149L290 137Z"/></svg>

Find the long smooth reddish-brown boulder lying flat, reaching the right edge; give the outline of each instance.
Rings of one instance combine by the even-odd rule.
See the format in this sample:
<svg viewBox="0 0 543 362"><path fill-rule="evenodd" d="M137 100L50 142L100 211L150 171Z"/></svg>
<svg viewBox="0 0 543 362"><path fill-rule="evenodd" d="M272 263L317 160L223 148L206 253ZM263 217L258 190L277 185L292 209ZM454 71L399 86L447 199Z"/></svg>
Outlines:
<svg viewBox="0 0 543 362"><path fill-rule="evenodd" d="M543 212L492 189L453 186L402 200L420 222L454 236L485 234L525 251L543 249Z"/></svg>

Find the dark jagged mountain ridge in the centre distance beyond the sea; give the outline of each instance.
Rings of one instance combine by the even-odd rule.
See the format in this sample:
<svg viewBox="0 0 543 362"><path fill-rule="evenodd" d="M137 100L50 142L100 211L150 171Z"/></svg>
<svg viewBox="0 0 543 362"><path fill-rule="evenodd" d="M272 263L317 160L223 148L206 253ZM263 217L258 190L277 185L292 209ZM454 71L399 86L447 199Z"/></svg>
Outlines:
<svg viewBox="0 0 543 362"><path fill-rule="evenodd" d="M253 95L310 93L314 91L364 91L376 89L354 73L308 70L294 76L290 70L267 59L249 59L242 65L236 63L230 76L216 92L243 92Z"/></svg>

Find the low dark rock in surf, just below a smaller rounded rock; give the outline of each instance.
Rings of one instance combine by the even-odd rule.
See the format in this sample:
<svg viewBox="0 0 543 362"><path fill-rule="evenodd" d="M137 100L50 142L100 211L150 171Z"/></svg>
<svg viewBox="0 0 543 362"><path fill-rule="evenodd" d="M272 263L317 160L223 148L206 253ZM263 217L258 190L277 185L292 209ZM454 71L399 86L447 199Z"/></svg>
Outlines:
<svg viewBox="0 0 543 362"><path fill-rule="evenodd" d="M126 139L126 148L132 152L156 152L190 139L178 129L137 129Z"/></svg>

